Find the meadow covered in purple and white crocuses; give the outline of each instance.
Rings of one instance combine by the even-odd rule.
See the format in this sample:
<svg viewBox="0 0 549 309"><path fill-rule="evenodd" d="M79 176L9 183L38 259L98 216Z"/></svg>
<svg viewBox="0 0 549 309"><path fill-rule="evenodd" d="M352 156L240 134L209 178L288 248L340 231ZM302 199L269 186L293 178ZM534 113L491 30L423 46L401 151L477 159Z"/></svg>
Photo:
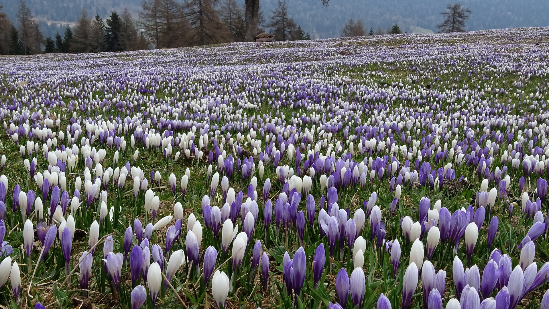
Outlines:
<svg viewBox="0 0 549 309"><path fill-rule="evenodd" d="M549 28L0 68L1 308L549 308Z"/></svg>

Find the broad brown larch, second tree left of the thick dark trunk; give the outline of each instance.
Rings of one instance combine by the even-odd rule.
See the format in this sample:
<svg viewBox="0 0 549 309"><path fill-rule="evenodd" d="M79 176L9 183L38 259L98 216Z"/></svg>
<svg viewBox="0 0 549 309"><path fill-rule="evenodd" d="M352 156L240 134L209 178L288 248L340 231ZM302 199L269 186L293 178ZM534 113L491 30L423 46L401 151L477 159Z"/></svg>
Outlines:
<svg viewBox="0 0 549 309"><path fill-rule="evenodd" d="M191 28L194 45L227 42L222 31L219 15L211 0L192 0L187 4L187 20Z"/></svg>

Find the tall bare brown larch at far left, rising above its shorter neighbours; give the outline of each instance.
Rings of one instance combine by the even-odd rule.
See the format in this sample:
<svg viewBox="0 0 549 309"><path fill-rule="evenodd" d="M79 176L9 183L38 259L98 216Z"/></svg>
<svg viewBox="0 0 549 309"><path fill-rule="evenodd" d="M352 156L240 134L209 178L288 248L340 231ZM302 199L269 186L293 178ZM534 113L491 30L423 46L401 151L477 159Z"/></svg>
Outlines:
<svg viewBox="0 0 549 309"><path fill-rule="evenodd" d="M19 32L21 42L23 42L24 54L38 53L44 41L42 32L38 29L38 21L32 17L32 13L24 0L19 2L19 10L17 12L19 21Z"/></svg>

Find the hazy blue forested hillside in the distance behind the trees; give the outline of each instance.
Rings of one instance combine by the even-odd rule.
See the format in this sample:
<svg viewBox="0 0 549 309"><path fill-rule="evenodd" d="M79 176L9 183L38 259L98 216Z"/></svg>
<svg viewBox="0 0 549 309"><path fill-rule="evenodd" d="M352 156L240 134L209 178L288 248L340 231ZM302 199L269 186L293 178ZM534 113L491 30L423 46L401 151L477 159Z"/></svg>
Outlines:
<svg viewBox="0 0 549 309"><path fill-rule="evenodd" d="M455 2L452 0L450 2ZM55 34L59 25L77 20L81 8L90 15L106 17L111 10L125 7L135 13L141 0L26 0L32 13L42 21L46 36ZM238 0L244 3L244 0ZM449 3L450 3L449 2ZM261 0L265 18L271 15L278 0ZM549 1L539 0L461 0L473 14L467 21L468 30L499 29L528 26L549 26ZM15 20L19 0L4 0L4 12ZM369 29L387 27L397 23L403 31L411 32L412 26L436 32L442 21L440 12L446 7L440 0L332 0L329 7L322 7L318 0L288 0L288 12L296 23L310 32L312 38L340 36L349 18L361 19ZM62 31L62 30L61 30ZM53 34L52 34L53 33Z"/></svg>

